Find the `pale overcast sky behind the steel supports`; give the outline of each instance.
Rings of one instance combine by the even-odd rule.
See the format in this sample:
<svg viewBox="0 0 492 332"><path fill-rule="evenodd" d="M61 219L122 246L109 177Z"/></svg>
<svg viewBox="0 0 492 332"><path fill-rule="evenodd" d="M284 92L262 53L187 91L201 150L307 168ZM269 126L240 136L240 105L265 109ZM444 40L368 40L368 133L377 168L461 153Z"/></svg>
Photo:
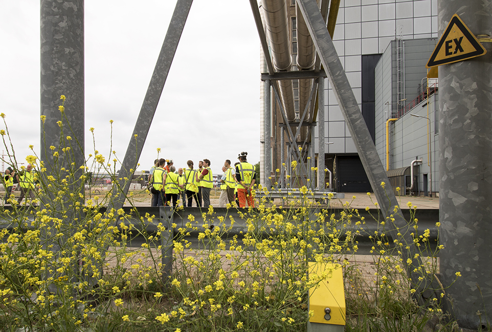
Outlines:
<svg viewBox="0 0 492 332"><path fill-rule="evenodd" d="M85 1L85 155L123 160L176 0ZM216 5L212 5L216 4ZM39 156L40 1L0 0L0 112L18 162ZM139 170L160 157L176 169L260 154L260 42L248 1L195 0L156 109ZM70 96L66 96L69 98ZM0 129L6 129L0 122ZM4 136L5 139L6 136ZM2 154L11 151L10 143ZM111 157L110 159L113 159ZM0 165L3 171L7 164Z"/></svg>

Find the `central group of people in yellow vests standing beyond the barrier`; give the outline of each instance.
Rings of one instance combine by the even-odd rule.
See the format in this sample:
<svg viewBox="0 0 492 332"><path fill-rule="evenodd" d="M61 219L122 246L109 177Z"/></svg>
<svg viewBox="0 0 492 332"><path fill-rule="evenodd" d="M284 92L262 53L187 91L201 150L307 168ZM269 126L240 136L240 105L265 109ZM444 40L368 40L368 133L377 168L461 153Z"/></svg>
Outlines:
<svg viewBox="0 0 492 332"><path fill-rule="evenodd" d="M239 207L255 206L251 194L255 184L255 168L247 161L247 156L248 152L239 153L235 168L231 167L231 160L224 162L219 206L225 206L226 201L231 205L237 203ZM187 166L176 172L172 159L154 160L148 180L152 193L151 206L170 205L172 202L175 207L180 196L184 207L191 207L193 199L197 207L210 206L210 191L213 188L210 160L200 160L198 169L193 168L192 160L187 161Z"/></svg>

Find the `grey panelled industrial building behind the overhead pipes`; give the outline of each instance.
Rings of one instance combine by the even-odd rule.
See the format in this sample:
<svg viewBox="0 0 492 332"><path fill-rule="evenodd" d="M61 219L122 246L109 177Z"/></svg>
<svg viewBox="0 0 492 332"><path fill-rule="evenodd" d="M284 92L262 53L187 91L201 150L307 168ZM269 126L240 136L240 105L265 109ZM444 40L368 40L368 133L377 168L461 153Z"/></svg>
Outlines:
<svg viewBox="0 0 492 332"><path fill-rule="evenodd" d="M304 19L296 10L296 2L286 0L284 9L278 3L262 0L262 10L260 9L276 72L303 74L318 71L323 75L316 51L314 47L310 47L309 40L306 41L307 29L305 23L303 25ZM324 9L325 2L318 3L322 14L330 10L332 18L331 8ZM331 1L329 6L336 3ZM278 17L274 16L281 16L278 12L283 10L287 15L287 29L280 29ZM325 21L329 24L328 18ZM377 153L385 165L387 176L392 186L400 187L399 194L429 195L431 189L436 193L439 188L436 143L438 82L437 79L427 80L425 67L437 43L437 22L437 0L341 0L336 15L333 44ZM282 40L285 36L288 36L289 45ZM263 54L260 65L261 72L267 73ZM316 175L310 174L309 170L323 165L323 162L320 163L323 160L319 160L319 122L323 121L323 166L327 169L325 187L337 192L370 192L371 184L329 81L324 78L324 96L319 99L319 91L311 91L312 86L316 85L315 76L316 73L309 79L293 79L289 82L279 80L280 96L275 96L275 88L272 89L270 111L265 111L264 108L265 89L262 82L261 117L265 119L265 123L271 124L270 142L263 136L268 131L263 130L265 124L260 124L261 143L270 145L270 156L268 149L262 146L262 151L265 151L262 160L268 163L269 160L265 158L270 158L271 172L262 167L264 173L261 181L265 183L269 176L277 181L281 180L275 170L282 167L287 169L288 175L288 167L285 165L290 165L290 161L296 159L296 156L289 153L285 120L294 134L307 105L306 116L297 136L298 145L308 151L301 158L297 156L305 166L304 173L299 168L304 181L308 178L316 179ZM263 81L270 77L264 74ZM292 97L289 96L290 91ZM318 116L318 100L323 100L323 116ZM286 119L281 114L281 109L285 110ZM265 114L270 114L270 118L264 117ZM314 151L312 158L310 151ZM413 186L411 173L414 173ZM329 180L330 174L332 181ZM303 180L298 184L302 184L301 182ZM311 181L313 185L314 182ZM318 186L319 182L320 180Z"/></svg>

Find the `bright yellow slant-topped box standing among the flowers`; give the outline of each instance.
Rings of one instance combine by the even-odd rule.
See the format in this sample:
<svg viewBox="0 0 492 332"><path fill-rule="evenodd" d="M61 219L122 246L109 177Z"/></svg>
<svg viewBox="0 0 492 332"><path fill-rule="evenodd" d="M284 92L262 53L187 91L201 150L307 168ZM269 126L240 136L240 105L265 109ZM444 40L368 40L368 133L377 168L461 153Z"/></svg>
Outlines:
<svg viewBox="0 0 492 332"><path fill-rule="evenodd" d="M307 332L343 332L345 326L345 290L342 267L336 264L309 263L309 279L321 281L309 289L308 307L312 316Z"/></svg>

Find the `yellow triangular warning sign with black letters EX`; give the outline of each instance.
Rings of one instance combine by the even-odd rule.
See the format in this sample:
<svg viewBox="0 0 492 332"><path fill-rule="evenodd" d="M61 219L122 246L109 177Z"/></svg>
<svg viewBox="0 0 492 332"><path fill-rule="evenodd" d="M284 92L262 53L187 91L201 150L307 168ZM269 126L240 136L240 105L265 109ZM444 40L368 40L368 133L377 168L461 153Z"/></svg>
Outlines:
<svg viewBox="0 0 492 332"><path fill-rule="evenodd" d="M426 67L458 62L484 55L487 51L465 23L454 14L442 34Z"/></svg>

